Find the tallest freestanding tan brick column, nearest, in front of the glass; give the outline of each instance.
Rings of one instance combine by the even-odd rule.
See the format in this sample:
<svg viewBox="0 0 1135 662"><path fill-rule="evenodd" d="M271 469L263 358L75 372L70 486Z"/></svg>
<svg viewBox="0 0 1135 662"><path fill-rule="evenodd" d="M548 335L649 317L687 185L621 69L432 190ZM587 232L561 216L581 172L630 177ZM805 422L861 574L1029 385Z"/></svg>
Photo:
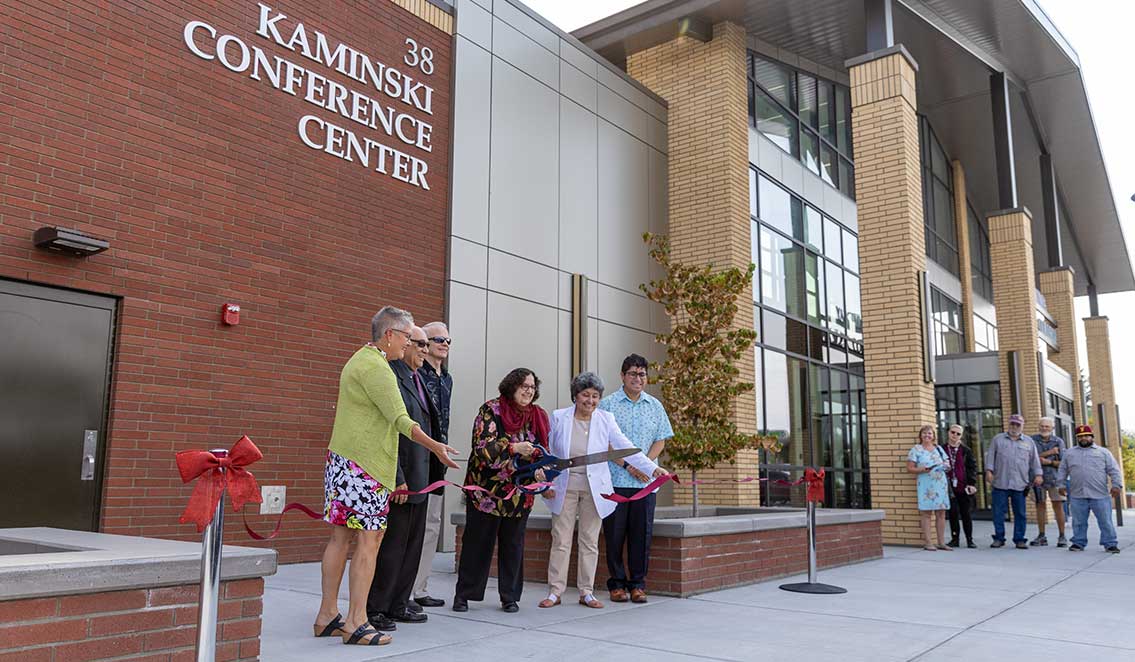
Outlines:
<svg viewBox="0 0 1135 662"><path fill-rule="evenodd" d="M871 502L886 510L883 542L919 544L915 477L907 452L934 422L934 385L923 380L918 273L926 269L917 65L902 47L849 60L859 210L867 377Z"/></svg>

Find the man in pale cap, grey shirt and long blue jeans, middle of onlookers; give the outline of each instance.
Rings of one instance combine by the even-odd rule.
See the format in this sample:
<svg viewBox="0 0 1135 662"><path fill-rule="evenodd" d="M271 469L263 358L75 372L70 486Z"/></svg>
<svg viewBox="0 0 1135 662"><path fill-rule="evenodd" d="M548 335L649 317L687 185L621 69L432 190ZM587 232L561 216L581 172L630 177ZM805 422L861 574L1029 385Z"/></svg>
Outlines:
<svg viewBox="0 0 1135 662"><path fill-rule="evenodd" d="M1022 434L1025 417L1015 413L1003 433L993 437L985 450L985 481L993 487L993 544L1004 546L1004 516L1012 504L1012 542L1018 550L1028 548L1025 537L1028 519L1025 514L1025 494L1029 485L1044 483L1041 458L1036 444Z"/></svg>

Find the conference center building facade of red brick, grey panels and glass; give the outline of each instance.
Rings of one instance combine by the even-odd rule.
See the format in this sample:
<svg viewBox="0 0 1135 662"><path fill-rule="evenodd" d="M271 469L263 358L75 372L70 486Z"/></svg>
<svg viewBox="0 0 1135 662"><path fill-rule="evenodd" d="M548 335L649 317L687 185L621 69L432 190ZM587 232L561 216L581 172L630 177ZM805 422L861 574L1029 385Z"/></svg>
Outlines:
<svg viewBox="0 0 1135 662"><path fill-rule="evenodd" d="M0 16L0 527L195 538L174 453L243 434L261 485L318 504L382 304L448 322L462 451L511 368L548 409L581 369L614 389L625 354L665 355L646 232L757 267L737 422L776 443L705 501L799 505L775 479L821 466L826 506L909 543L920 425L981 449L1048 413L1118 453L1094 302L1135 277L1078 60L1033 2L994 26L945 0L649 0L574 35L514 0ZM325 535L271 544L310 561Z"/></svg>

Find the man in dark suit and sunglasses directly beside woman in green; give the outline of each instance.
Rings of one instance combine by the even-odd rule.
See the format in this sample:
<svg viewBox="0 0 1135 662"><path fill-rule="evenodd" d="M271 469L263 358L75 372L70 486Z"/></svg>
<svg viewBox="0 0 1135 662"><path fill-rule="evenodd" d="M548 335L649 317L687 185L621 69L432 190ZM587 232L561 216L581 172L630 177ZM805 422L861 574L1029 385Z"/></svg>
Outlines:
<svg viewBox="0 0 1135 662"><path fill-rule="evenodd" d="M439 429L437 407L426 392L418 369L426 361L429 341L426 332L413 327L410 332L411 345L400 361L390 361L390 368L398 379L398 391L406 404L410 418L418 421L422 431L434 436ZM429 483L429 451L412 441L398 438L398 478L396 489L418 492ZM420 623L427 620L421 607L411 605L410 592L418 576L418 562L422 553L426 535L427 495L394 496L387 516L386 536L378 551L375 580L367 598L367 615L379 630L394 630L395 621Z"/></svg>

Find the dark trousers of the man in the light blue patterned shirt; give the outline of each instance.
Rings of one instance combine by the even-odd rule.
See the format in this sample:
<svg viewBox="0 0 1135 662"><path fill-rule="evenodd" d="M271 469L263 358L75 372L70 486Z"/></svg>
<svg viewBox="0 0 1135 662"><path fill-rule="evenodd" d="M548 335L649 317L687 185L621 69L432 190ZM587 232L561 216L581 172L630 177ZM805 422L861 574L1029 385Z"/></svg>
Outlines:
<svg viewBox="0 0 1135 662"><path fill-rule="evenodd" d="M631 496L637 487L616 487L615 494ZM650 537L654 534L655 494L639 501L620 503L615 512L603 520L603 538L607 545L607 590L616 588L646 588L646 571L650 563ZM623 565L623 546L627 547L627 564Z"/></svg>

